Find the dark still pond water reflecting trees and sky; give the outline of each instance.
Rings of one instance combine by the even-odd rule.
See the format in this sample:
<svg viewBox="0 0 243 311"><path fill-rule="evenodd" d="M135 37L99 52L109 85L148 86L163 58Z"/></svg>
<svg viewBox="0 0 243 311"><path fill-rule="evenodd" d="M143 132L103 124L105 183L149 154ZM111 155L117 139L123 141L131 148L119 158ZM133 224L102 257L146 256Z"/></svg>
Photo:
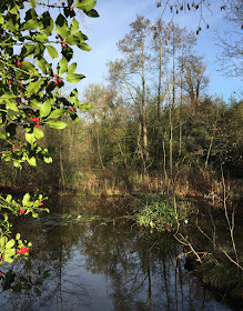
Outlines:
<svg viewBox="0 0 243 311"><path fill-rule="evenodd" d="M50 214L14 224L33 247L28 264L12 267L12 283L27 289L2 290L1 311L231 310L186 272L169 234L123 217L126 199L69 195L47 204Z"/></svg>

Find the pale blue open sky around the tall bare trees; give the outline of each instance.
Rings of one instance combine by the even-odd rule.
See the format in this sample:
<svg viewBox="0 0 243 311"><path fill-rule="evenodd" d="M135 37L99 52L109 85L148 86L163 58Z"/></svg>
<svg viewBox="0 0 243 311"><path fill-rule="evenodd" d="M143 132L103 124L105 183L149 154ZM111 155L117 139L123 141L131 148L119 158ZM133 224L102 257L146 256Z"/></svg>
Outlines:
<svg viewBox="0 0 243 311"><path fill-rule="evenodd" d="M201 22L202 31L198 36L196 54L204 57L207 64L206 74L210 77L210 86L206 90L209 94L223 96L227 101L230 96L235 91L243 90L240 78L225 78L222 72L216 71L219 63L216 54L220 50L216 46L216 31L222 32L224 28L229 28L223 19L223 12L220 10L220 1L214 1L210 10L204 8L203 17L210 29L205 28L205 23ZM144 16L154 22L162 14L162 8L156 8L154 0L98 0L95 9L100 18L87 18L83 22L85 29L83 32L89 37L89 44L92 48L90 52L81 52L78 56L78 70L87 76L79 83L79 90L82 90L89 83L105 82L107 62L115 60L121 54L117 49L117 42L121 40L125 33L130 31L129 23L134 21L136 14ZM163 20L169 22L172 14L166 11ZM174 22L180 27L186 27L189 30L196 31L200 22L200 12L180 12L174 16Z"/></svg>

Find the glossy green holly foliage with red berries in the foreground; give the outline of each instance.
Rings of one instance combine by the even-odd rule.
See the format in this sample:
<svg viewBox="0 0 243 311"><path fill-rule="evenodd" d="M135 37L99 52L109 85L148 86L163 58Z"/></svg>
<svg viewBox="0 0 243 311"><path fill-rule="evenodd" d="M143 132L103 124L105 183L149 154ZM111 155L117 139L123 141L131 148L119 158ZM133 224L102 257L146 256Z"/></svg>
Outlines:
<svg viewBox="0 0 243 311"><path fill-rule="evenodd" d="M1 160L16 168L24 163L36 167L39 161L51 163L50 148L42 148L39 140L45 127L61 130L67 127L60 118L78 118L80 106L78 90L69 97L60 96L65 82L77 83L84 78L77 73L72 62L74 48L89 51L88 37L82 33L77 13L98 17L95 0L50 1L3 0L0 4L0 139ZM57 60L55 60L57 59ZM18 133L23 139L18 139ZM10 239L9 215L31 213L37 218L43 205L42 194L31 199L26 193L21 201L10 194L0 195L0 254L2 261L12 262L27 257L31 243ZM16 250L16 244L18 250ZM28 247L26 247L26 244Z"/></svg>

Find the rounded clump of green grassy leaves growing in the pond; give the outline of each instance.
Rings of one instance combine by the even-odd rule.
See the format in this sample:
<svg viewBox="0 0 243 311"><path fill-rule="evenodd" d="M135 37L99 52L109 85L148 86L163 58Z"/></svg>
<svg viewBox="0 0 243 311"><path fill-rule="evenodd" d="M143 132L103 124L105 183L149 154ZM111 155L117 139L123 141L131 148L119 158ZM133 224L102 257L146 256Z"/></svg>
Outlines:
<svg viewBox="0 0 243 311"><path fill-rule="evenodd" d="M164 195L152 195L142 203L136 222L140 227L158 231L175 231L181 223L188 223L186 209L175 209Z"/></svg>

